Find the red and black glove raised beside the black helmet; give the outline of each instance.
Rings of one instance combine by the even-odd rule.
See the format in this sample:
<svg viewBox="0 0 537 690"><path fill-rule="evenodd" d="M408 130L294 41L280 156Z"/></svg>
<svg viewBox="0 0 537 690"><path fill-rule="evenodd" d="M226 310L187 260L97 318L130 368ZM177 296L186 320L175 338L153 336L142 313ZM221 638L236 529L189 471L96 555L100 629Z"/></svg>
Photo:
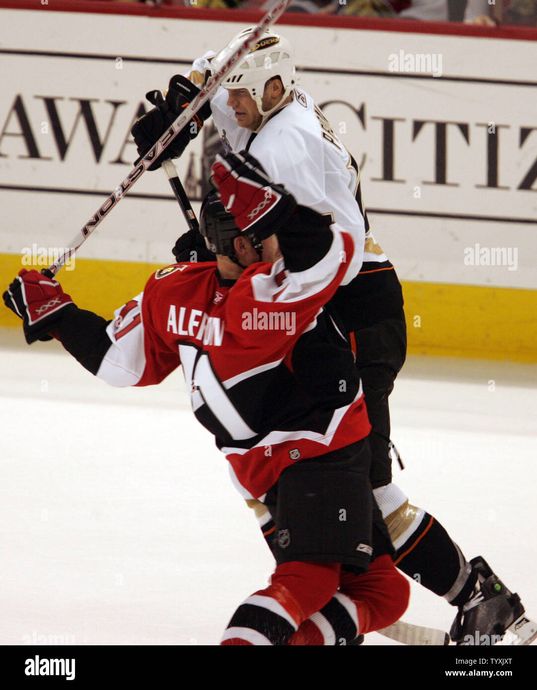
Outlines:
<svg viewBox="0 0 537 690"><path fill-rule="evenodd" d="M266 176L260 162L246 151L216 157L213 181L222 204L237 227L257 239L273 235L291 216L295 197Z"/></svg>

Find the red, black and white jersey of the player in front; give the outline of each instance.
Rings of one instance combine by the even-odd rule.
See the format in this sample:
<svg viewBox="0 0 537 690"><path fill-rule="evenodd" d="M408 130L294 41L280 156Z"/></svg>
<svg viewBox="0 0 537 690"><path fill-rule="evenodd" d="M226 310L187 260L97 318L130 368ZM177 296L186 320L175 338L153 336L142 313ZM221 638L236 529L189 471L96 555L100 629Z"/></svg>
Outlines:
<svg viewBox="0 0 537 690"><path fill-rule="evenodd" d="M236 282L215 263L158 270L108 323L93 364L113 386L158 384L181 364L193 411L245 497L262 497L293 462L369 433L352 353L323 310L355 248L327 223L278 233L284 259Z"/></svg>

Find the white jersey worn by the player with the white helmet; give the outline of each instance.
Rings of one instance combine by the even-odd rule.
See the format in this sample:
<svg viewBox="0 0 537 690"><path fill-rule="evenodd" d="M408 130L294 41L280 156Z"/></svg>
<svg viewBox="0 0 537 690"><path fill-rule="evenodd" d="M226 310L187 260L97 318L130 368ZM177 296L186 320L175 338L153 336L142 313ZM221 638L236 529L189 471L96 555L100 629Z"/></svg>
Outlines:
<svg viewBox="0 0 537 690"><path fill-rule="evenodd" d="M199 76L213 55L207 52L193 63ZM346 285L362 262L378 265L388 259L369 230L358 165L311 96L297 88L292 94L293 101L270 115L254 133L237 124L233 108L226 105L228 92L220 87L211 97L213 121L226 150L248 150L299 204L331 214L338 228L350 233L356 250L342 281Z"/></svg>

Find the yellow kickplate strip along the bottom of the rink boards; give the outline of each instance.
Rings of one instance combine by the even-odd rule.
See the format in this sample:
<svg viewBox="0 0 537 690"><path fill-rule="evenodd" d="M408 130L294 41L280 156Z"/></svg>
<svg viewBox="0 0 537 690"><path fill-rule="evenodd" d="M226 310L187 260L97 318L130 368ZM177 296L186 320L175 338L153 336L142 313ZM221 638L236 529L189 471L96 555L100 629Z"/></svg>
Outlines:
<svg viewBox="0 0 537 690"><path fill-rule="evenodd" d="M3 290L21 268L21 256L0 254ZM42 266L34 268L41 269ZM113 311L144 290L160 264L77 259L76 270L58 275L80 308L109 319ZM537 290L476 285L403 282L409 353L537 362ZM20 327L0 308L0 327Z"/></svg>

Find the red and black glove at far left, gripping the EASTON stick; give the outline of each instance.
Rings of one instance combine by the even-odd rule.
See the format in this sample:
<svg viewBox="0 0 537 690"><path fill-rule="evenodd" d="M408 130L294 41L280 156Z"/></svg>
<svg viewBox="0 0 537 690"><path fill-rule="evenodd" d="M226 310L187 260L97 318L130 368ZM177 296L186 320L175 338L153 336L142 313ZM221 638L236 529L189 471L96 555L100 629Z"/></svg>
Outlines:
<svg viewBox="0 0 537 690"><path fill-rule="evenodd" d="M57 280L37 270L23 268L3 293L3 301L23 320L24 336L28 345L36 340L50 340L64 316L64 308L73 304Z"/></svg>

